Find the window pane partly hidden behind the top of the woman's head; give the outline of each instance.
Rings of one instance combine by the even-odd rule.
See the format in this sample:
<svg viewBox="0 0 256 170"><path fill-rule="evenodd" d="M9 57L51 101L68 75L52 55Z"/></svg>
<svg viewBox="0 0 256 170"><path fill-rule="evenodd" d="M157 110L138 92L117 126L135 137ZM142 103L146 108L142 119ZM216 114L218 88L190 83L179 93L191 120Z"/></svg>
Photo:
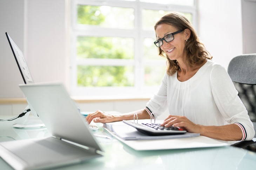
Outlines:
<svg viewBox="0 0 256 170"><path fill-rule="evenodd" d="M143 9L142 10L142 29L144 30L154 30L155 23L165 14L169 13L169 11L163 10L151 10L151 9ZM187 19L192 21L191 13L183 13Z"/></svg>

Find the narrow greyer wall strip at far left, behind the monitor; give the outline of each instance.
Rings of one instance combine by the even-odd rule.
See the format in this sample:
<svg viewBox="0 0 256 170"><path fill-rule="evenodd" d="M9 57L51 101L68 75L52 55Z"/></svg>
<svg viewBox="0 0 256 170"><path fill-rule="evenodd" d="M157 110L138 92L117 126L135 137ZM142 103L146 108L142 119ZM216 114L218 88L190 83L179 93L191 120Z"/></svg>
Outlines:
<svg viewBox="0 0 256 170"><path fill-rule="evenodd" d="M24 1L0 1L0 98L21 97L23 83L5 32L24 49Z"/></svg>

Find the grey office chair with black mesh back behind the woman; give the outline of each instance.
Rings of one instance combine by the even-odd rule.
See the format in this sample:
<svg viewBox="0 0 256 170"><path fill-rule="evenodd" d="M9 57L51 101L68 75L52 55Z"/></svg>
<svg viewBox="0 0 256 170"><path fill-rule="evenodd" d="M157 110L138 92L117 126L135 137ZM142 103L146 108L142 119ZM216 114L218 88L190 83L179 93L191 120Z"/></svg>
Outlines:
<svg viewBox="0 0 256 170"><path fill-rule="evenodd" d="M228 65L228 74L256 131L256 54L245 54L233 58ZM255 141L256 134L254 140L241 141L233 146L256 152Z"/></svg>

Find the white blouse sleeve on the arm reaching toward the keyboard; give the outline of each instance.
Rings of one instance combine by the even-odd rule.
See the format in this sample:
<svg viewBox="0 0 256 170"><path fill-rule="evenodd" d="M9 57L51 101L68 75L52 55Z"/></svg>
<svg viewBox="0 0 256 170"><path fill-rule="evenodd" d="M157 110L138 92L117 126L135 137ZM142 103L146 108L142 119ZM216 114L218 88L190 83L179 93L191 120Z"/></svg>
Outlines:
<svg viewBox="0 0 256 170"><path fill-rule="evenodd" d="M167 109L167 73L164 74L162 83L160 85L159 91L151 98L146 104L146 111L150 115L154 112L154 115L157 117L161 115Z"/></svg>

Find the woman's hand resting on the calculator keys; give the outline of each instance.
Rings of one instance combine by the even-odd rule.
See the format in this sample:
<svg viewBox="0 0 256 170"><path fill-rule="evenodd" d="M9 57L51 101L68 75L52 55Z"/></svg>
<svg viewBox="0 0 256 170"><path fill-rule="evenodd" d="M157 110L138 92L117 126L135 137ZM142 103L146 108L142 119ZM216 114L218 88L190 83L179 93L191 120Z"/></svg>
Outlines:
<svg viewBox="0 0 256 170"><path fill-rule="evenodd" d="M200 133L200 125L191 122L186 116L169 115L161 126L176 126L187 130L190 133Z"/></svg>

